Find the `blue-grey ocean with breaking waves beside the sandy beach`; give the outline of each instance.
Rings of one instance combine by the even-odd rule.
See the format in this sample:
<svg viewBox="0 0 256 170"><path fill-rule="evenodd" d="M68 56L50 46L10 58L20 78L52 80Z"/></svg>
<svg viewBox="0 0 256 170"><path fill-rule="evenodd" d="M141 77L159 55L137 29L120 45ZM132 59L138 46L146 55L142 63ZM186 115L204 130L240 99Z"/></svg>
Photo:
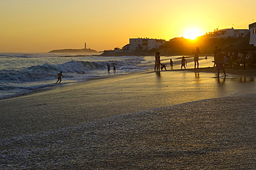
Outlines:
<svg viewBox="0 0 256 170"><path fill-rule="evenodd" d="M0 99L33 92L39 88L59 86L57 73L62 71L61 84L84 82L104 77L139 72L154 67L154 56L104 57L101 53L0 53ZM161 56L161 61L174 61L174 69L181 67L181 56ZM201 66L212 66L212 59L202 60ZM188 59L192 62L192 58ZM107 71L107 64L111 70ZM116 73L113 73L113 64ZM191 68L193 64L190 64ZM169 68L169 65L167 66Z"/></svg>

